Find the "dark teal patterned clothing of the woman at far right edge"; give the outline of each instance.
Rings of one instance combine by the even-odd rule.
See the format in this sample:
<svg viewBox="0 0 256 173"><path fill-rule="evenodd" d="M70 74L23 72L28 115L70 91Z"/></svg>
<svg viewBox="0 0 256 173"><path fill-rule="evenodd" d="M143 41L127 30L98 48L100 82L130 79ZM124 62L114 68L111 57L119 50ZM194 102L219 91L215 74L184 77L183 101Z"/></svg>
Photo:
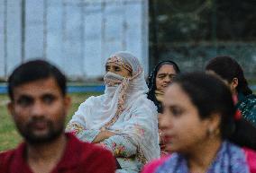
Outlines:
<svg viewBox="0 0 256 173"><path fill-rule="evenodd" d="M242 117L256 126L256 96L254 94L243 96L240 93L238 99L236 107L241 111Z"/></svg>

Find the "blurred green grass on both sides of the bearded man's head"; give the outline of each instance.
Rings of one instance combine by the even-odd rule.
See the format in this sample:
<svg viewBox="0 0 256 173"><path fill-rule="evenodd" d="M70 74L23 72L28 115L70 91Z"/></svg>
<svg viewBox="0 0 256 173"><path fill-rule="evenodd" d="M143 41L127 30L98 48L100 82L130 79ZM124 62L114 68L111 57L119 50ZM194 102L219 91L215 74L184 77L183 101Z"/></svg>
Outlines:
<svg viewBox="0 0 256 173"><path fill-rule="evenodd" d="M81 102L91 95L100 93L72 93L72 105L69 110L67 122L78 109ZM0 151L13 149L18 143L22 142L22 137L17 133L12 117L8 114L6 103L9 101L6 95L0 95Z"/></svg>

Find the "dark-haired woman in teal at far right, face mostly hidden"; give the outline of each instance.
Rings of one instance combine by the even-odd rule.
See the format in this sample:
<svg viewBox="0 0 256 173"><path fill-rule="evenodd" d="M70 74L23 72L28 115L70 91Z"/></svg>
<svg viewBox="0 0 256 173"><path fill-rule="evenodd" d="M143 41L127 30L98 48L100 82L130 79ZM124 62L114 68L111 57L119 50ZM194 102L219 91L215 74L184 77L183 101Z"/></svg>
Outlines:
<svg viewBox="0 0 256 173"><path fill-rule="evenodd" d="M227 82L242 117L256 126L256 96L248 87L241 65L230 56L216 56L207 63L206 71L217 74Z"/></svg>

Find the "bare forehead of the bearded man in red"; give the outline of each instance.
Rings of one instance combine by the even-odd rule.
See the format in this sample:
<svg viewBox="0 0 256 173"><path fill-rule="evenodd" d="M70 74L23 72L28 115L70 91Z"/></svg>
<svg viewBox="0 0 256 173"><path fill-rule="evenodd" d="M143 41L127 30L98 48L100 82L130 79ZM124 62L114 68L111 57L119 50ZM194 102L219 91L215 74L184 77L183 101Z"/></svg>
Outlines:
<svg viewBox="0 0 256 173"><path fill-rule="evenodd" d="M59 85L53 77L47 79L40 79L37 81L26 82L14 87L14 97L20 95L39 96L46 93L61 94Z"/></svg>

